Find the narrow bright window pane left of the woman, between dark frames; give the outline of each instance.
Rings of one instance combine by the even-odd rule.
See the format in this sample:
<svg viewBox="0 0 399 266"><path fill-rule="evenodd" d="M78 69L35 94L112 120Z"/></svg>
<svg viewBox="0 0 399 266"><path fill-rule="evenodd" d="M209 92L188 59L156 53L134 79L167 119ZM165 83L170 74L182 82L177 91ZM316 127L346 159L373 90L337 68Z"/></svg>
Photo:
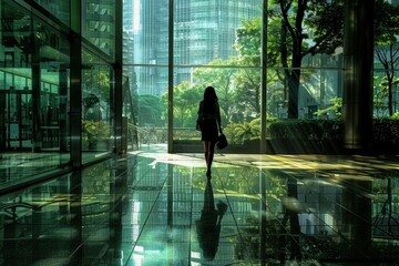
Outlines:
<svg viewBox="0 0 399 266"><path fill-rule="evenodd" d="M123 3L123 74L133 104L129 147L166 150L168 18L168 0Z"/></svg>

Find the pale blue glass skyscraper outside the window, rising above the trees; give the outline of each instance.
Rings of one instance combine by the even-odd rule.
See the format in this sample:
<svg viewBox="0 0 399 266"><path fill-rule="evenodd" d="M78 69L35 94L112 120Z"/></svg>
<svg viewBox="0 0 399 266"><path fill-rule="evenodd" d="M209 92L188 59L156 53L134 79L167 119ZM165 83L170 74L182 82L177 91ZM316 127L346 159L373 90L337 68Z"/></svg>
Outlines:
<svg viewBox="0 0 399 266"><path fill-rule="evenodd" d="M167 90L168 1L132 0L134 63L140 94ZM190 81L193 68L236 54L233 44L242 20L260 17L259 0L174 1L174 82ZM129 11L125 11L129 16ZM125 21L125 23L130 18ZM127 29L127 27L126 27Z"/></svg>

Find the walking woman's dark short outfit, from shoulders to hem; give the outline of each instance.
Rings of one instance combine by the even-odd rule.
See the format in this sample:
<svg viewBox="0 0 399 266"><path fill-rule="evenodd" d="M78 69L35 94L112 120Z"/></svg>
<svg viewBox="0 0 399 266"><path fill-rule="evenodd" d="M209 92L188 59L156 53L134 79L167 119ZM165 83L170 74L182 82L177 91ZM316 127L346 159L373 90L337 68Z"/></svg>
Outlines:
<svg viewBox="0 0 399 266"><path fill-rule="evenodd" d="M204 111L204 102L201 101L198 119L201 121L201 140L216 143L221 124L221 112L218 103L215 102L215 110L209 113Z"/></svg>

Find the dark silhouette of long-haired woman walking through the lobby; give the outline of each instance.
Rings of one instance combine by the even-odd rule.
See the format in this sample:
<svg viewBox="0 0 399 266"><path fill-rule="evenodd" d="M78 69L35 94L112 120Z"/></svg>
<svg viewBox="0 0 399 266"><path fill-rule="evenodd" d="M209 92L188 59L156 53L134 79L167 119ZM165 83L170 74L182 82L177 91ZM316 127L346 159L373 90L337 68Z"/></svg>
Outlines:
<svg viewBox="0 0 399 266"><path fill-rule="evenodd" d="M207 86L205 89L204 99L200 102L198 121L201 124L201 140L204 143L206 176L211 177L211 166L215 153L215 144L219 133L222 134L221 109L213 86Z"/></svg>

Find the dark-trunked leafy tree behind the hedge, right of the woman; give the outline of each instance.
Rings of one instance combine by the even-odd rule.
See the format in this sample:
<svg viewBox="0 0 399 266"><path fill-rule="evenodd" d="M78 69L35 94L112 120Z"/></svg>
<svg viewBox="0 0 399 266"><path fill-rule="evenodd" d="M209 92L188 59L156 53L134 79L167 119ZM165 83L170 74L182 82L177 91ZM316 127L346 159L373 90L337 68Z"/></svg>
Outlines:
<svg viewBox="0 0 399 266"><path fill-rule="evenodd" d="M288 117L298 117L301 61L306 55L332 53L342 43L342 0L275 0L270 20L280 22L279 58L288 85ZM276 23L270 23L276 25ZM277 29L275 30L277 31Z"/></svg>

